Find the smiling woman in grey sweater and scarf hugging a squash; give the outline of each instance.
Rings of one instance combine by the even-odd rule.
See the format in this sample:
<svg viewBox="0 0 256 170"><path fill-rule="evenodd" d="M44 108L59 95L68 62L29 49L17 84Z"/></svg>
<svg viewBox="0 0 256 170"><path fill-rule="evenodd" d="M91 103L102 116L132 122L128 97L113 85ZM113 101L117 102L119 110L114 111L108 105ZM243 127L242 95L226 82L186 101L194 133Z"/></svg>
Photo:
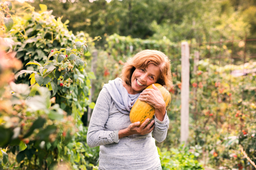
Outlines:
<svg viewBox="0 0 256 170"><path fill-rule="evenodd" d="M99 170L162 170L155 140L166 139L169 118L161 92L154 85L145 89L153 83L172 84L170 60L160 51L144 50L128 59L121 78L103 86L87 132L88 146L100 146ZM140 127L130 122L137 99L155 108L147 126L149 119Z"/></svg>

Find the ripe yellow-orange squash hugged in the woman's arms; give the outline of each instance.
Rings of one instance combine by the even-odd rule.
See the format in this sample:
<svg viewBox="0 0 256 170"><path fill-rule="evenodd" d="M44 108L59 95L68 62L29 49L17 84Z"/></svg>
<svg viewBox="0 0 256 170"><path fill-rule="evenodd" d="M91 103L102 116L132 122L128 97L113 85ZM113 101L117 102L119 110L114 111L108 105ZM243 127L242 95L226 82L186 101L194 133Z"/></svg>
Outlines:
<svg viewBox="0 0 256 170"><path fill-rule="evenodd" d="M166 103L166 110L167 110L171 103L171 94L162 85L157 83L155 83L154 85L161 91L163 95L163 100ZM152 85L149 85L147 88L153 89ZM140 125L141 125L148 118L150 119L149 122L151 122L154 119L154 113L155 113L155 108L153 106L149 105L147 102L143 102L137 99L137 101L134 103L133 107L131 108L131 112L130 112L131 123L140 121ZM138 127L140 127L140 125Z"/></svg>

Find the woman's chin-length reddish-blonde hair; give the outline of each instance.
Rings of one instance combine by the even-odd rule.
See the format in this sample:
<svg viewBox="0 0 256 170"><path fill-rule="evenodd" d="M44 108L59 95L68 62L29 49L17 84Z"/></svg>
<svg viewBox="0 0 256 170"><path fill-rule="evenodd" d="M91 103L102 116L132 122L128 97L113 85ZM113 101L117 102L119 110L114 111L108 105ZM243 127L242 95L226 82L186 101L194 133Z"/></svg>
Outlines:
<svg viewBox="0 0 256 170"><path fill-rule="evenodd" d="M134 57L129 58L122 68L121 79L131 85L131 76L136 68L147 68L149 63L160 67L160 77L157 79L158 84L166 85L167 89L172 85L171 60L157 50L143 50Z"/></svg>

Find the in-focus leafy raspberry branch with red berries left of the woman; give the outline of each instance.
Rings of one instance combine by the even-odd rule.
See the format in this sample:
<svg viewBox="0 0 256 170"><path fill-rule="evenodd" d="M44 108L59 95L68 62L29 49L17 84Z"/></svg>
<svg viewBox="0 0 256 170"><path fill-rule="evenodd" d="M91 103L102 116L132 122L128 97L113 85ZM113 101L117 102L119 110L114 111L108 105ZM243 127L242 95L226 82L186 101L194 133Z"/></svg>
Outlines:
<svg viewBox="0 0 256 170"><path fill-rule="evenodd" d="M70 79L69 71L73 72L73 68L81 67L84 65L84 61L81 59L81 55L86 54L88 52L88 46L83 42L76 42L76 49L71 48L61 48L58 50L54 48L51 50L50 54L48 55L47 62L44 65L37 61L30 61L26 65L38 65L39 72L37 71L30 71L30 70L21 70L17 75L16 79L20 74L25 75L27 73L31 74L29 76L30 79L30 86L31 88L34 85L37 86L44 86L48 88L49 91L52 90L52 96L58 91L58 85L60 86L67 86L69 87L70 84L73 82ZM50 58L53 57L52 60ZM26 66L25 65L25 66ZM34 96L36 90L32 89L30 91L30 96Z"/></svg>

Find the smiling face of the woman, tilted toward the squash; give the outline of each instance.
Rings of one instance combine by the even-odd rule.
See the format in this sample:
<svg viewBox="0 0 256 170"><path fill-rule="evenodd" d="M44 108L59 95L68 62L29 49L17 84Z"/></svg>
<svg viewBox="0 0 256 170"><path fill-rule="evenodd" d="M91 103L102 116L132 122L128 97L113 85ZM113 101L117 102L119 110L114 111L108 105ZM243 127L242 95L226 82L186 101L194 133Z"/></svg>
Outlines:
<svg viewBox="0 0 256 170"><path fill-rule="evenodd" d="M156 83L160 74L161 71L159 66L152 63L148 64L148 68L136 68L131 77L133 94L140 93L149 85Z"/></svg>

